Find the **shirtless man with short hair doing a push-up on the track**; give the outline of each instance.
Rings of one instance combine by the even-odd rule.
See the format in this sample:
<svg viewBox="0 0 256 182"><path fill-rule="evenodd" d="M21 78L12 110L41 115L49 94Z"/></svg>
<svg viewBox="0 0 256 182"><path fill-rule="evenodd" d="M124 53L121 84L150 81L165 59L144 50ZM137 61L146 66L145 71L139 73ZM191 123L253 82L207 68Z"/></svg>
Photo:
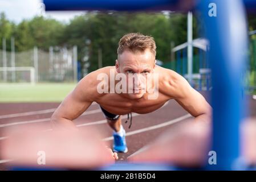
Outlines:
<svg viewBox="0 0 256 182"><path fill-rule="evenodd" d="M119 84L115 80L119 74L125 76L120 80L128 84L127 88L124 85L120 88L127 92L120 93L115 89L113 91L113 87L116 88ZM132 81L130 75L135 76ZM102 80L104 76L107 80ZM145 80L153 84L145 84ZM102 92L104 86L107 92ZM154 88L153 92L149 92L150 88ZM79 81L76 88L56 109L51 123L54 126L75 128L72 120L83 114L92 102L96 102L100 105L108 125L113 129L113 151L127 152L121 115L132 112L151 113L171 99L176 100L193 115L195 121L210 122L212 107L205 98L194 90L184 77L156 65L154 39L151 36L131 33L120 39L115 66L97 69Z"/></svg>

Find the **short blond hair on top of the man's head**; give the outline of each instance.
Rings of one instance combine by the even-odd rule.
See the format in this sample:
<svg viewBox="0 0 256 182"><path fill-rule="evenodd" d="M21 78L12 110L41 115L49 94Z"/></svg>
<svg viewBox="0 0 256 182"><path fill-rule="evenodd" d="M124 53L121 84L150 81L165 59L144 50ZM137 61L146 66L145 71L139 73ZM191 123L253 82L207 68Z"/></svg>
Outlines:
<svg viewBox="0 0 256 182"><path fill-rule="evenodd" d="M121 55L125 50L132 52L144 52L149 49L156 56L156 43L152 36L143 35L140 33L125 34L119 41L117 55Z"/></svg>

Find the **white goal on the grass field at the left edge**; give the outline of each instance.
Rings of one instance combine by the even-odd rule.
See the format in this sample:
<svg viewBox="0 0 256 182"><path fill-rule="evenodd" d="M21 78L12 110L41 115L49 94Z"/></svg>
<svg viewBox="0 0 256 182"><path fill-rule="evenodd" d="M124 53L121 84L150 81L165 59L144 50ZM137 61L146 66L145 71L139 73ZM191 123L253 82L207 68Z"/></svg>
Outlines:
<svg viewBox="0 0 256 182"><path fill-rule="evenodd" d="M29 72L29 80L21 79L19 74ZM35 83L35 68L34 67L0 67L1 82L10 82L9 74L11 73L11 82L30 82ZM21 80L21 81L20 81Z"/></svg>

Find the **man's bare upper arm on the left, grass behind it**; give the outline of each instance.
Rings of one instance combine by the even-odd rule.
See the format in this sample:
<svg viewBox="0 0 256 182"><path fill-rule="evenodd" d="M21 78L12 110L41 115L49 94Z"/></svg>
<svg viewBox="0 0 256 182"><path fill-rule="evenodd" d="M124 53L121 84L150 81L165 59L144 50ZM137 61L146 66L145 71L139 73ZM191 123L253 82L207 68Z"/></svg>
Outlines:
<svg viewBox="0 0 256 182"><path fill-rule="evenodd" d="M83 114L95 100L96 92L95 72L84 77L76 88L68 94L51 117L53 128L76 129L72 120Z"/></svg>

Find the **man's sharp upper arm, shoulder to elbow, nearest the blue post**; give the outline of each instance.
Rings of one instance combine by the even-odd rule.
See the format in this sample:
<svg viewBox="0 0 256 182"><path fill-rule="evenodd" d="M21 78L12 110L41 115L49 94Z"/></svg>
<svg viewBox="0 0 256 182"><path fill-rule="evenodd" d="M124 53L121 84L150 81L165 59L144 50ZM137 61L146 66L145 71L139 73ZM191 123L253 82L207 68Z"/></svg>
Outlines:
<svg viewBox="0 0 256 182"><path fill-rule="evenodd" d="M171 71L165 85L167 90L169 90L169 96L196 117L196 121L204 121L206 123L211 121L212 107L199 92L189 85L184 77Z"/></svg>

